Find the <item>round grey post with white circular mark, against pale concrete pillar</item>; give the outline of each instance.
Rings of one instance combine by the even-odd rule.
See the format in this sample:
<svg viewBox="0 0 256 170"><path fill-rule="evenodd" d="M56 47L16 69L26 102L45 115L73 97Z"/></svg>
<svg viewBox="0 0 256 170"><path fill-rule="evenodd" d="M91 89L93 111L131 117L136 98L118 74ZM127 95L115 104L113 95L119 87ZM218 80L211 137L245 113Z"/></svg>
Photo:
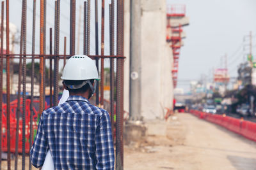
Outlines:
<svg viewBox="0 0 256 170"><path fill-rule="evenodd" d="M141 119L141 0L131 0L130 120Z"/></svg>

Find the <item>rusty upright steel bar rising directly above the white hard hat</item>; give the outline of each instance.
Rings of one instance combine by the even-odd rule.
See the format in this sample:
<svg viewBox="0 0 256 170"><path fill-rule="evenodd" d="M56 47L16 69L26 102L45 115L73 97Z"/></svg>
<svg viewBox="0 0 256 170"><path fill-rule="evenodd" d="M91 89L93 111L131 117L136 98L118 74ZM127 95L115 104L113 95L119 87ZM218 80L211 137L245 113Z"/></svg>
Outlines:
<svg viewBox="0 0 256 170"><path fill-rule="evenodd" d="M70 55L74 55L76 47L76 0L70 0Z"/></svg>

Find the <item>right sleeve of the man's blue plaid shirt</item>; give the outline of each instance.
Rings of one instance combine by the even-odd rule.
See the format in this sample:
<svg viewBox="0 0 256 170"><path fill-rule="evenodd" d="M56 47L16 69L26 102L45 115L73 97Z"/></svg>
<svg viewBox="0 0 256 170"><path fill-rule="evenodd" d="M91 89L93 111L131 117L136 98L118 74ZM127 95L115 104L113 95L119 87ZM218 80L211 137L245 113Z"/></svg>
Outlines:
<svg viewBox="0 0 256 170"><path fill-rule="evenodd" d="M95 136L96 169L114 169L115 153L112 140L111 122L108 112L99 118Z"/></svg>

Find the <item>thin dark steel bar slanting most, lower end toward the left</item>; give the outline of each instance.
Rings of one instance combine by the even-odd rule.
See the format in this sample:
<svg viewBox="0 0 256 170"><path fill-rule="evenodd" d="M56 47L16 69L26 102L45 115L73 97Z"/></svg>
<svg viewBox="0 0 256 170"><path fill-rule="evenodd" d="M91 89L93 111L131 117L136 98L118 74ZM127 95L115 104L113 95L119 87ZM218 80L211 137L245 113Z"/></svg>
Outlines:
<svg viewBox="0 0 256 170"><path fill-rule="evenodd" d="M22 9L24 4L22 3ZM18 168L18 149L19 149L19 119L20 119L20 85L21 85L21 74L22 74L22 53L23 53L23 24L24 24L24 13L21 13L21 24L20 24L20 56L19 56L19 80L18 80L18 103L16 111L16 141L15 141L15 170Z"/></svg>

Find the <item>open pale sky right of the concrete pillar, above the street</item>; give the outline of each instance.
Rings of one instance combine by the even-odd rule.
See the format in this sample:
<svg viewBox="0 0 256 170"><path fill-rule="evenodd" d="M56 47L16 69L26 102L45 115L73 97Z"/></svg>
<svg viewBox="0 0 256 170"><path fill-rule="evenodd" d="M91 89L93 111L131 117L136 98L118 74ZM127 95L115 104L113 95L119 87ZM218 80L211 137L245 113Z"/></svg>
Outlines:
<svg viewBox="0 0 256 170"><path fill-rule="evenodd" d="M225 67L237 76L237 66L249 52L249 32L253 35L256 56L255 0L167 0L167 4L186 4L189 25L180 50L177 87L189 90L189 80L206 76L212 80L213 69ZM246 39L244 41L244 36Z"/></svg>

